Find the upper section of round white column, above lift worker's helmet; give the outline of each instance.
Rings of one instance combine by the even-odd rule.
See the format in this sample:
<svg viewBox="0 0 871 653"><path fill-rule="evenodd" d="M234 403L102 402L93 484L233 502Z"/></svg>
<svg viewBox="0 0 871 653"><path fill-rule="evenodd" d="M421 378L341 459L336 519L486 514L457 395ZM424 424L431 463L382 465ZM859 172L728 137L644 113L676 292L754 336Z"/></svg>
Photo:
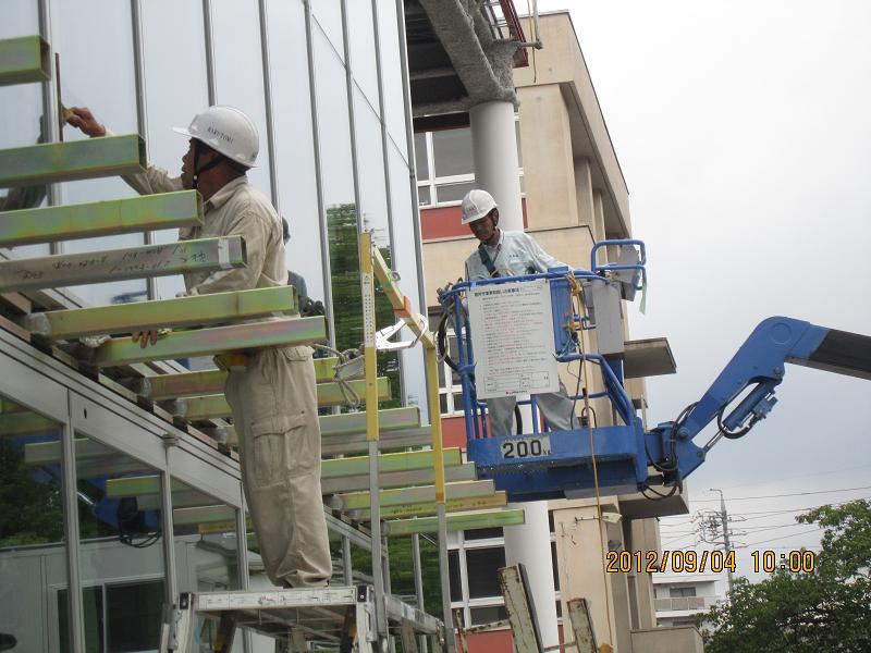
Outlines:
<svg viewBox="0 0 871 653"><path fill-rule="evenodd" d="M517 174L517 136L514 104L483 102L469 111L475 185L493 196L499 206L499 226L523 231L520 177Z"/></svg>

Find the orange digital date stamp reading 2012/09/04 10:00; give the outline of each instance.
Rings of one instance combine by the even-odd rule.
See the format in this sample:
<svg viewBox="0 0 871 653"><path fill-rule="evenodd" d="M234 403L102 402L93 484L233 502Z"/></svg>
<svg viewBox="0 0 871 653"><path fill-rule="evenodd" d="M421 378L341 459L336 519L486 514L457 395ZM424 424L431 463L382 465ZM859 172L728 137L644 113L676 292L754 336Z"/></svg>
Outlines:
<svg viewBox="0 0 871 653"><path fill-rule="evenodd" d="M753 572L771 574L776 569L786 569L793 574L809 574L817 564L815 553L812 551L789 551L775 553L771 550L753 551L750 553L753 560ZM630 572L638 574L655 571L672 574L720 574L722 571L737 571L735 552L724 551L609 551L605 555L605 571L610 574Z"/></svg>

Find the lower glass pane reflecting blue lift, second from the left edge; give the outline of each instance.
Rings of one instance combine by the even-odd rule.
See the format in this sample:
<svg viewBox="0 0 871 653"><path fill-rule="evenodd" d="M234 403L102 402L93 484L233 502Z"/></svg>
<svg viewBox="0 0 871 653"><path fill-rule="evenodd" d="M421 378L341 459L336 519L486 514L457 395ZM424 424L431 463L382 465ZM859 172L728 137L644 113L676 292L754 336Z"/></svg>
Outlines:
<svg viewBox="0 0 871 653"><path fill-rule="evenodd" d="M157 649L165 578L160 476L81 433L74 444L86 648ZM59 607L66 600L60 594Z"/></svg>

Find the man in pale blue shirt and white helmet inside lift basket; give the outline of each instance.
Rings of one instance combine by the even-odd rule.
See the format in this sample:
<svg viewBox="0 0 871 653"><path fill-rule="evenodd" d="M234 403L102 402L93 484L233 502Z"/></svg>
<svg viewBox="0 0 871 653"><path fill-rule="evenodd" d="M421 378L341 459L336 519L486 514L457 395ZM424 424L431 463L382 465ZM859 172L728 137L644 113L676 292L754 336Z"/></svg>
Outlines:
<svg viewBox="0 0 871 653"><path fill-rule="evenodd" d="M466 280L516 276L547 272L549 268L565 267L525 232L499 229L499 207L487 190L475 188L463 198L463 224L468 224L478 241L478 249L466 259ZM548 426L554 431L579 428L574 402L565 385L554 393L536 395L538 407ZM487 399L492 435L513 434L512 419L517 398L514 396Z"/></svg>

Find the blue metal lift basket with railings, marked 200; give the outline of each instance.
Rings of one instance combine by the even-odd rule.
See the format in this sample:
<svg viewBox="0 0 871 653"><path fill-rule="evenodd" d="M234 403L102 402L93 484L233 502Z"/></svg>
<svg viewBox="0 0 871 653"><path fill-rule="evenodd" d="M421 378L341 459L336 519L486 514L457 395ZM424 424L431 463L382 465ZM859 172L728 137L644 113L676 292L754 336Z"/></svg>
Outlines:
<svg viewBox="0 0 871 653"><path fill-rule="evenodd" d="M598 254L606 247L619 248L619 256L615 257L615 262L598 263ZM604 241L594 245L590 258L590 270L557 268L538 274L461 282L440 296L443 310L453 316L457 343L454 365L463 390L469 459L475 461L479 477L494 479L496 489L507 491L511 501L590 495L590 489L596 484L590 469L593 455L609 460L609 465L600 469L603 484L634 492L637 479L647 477L643 428L623 385L619 353L602 354L582 344L584 333L596 331L606 317L604 305L597 306L600 315L596 320L586 315L587 305L593 304L591 298L597 293L604 289L613 295L610 306L614 316L611 318L618 320L621 298L633 298L646 287L645 246L635 239ZM492 436L489 433L486 402L479 399L476 386L467 295L476 288L538 280L547 282L550 294L553 357L559 362L589 362L600 371L602 391L591 392L585 387L572 398L576 402L606 399L618 416L621 423L593 429L592 442L587 442L586 428L542 432L535 394L529 399L518 401L518 404L528 403L532 407L531 430L524 429L517 435ZM589 386L591 380L586 379L586 383Z"/></svg>

